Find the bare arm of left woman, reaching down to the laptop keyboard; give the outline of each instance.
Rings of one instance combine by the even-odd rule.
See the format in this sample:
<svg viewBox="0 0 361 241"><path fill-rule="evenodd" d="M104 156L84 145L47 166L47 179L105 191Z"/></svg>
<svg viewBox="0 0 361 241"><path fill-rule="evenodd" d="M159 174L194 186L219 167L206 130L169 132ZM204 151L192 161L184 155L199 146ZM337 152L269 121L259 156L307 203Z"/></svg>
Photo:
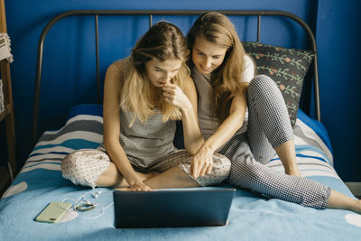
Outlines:
<svg viewBox="0 0 361 241"><path fill-rule="evenodd" d="M118 68L120 67L120 68ZM135 171L129 162L125 151L119 143L120 134L120 117L119 117L119 93L122 85L122 65L116 67L112 64L106 70L106 80L104 85L104 102L103 102L103 118L104 118L104 144L106 153L110 160L115 163L116 169L122 173L125 181L129 186L138 185L142 190L151 190L139 180Z"/></svg>

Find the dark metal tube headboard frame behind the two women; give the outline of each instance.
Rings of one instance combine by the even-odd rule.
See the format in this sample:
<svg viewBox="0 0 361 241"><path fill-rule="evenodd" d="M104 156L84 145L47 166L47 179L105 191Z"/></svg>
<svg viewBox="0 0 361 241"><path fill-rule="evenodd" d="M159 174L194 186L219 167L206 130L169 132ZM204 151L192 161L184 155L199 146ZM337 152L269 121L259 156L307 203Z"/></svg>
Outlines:
<svg viewBox="0 0 361 241"><path fill-rule="evenodd" d="M207 13L206 10L74 10L67 11L62 14L55 16L49 23L46 24L42 30L38 42L38 57L36 63L36 77L35 77L35 92L34 92L34 105L33 105L33 116L32 116L32 143L36 144L37 141L37 132L38 132L38 116L39 116L39 101L40 101L40 89L42 84L42 54L43 54L43 45L45 37L51 27L60 21L63 18L74 16L74 15L94 15L95 16L95 37L96 37L96 55L97 55L97 100L100 103L100 78L99 78L99 45L98 45L98 16L99 15L148 15L149 16L149 25L152 26L153 15L200 15ZM257 42L260 41L260 29L261 29L261 17L262 16L283 16L290 18L296 23L299 23L302 28L307 32L311 49L315 54L313 60L313 88L314 88L314 107L315 107L315 117L320 121L320 109L319 109L319 73L318 73L318 63L317 63L317 47L315 37L313 32L310 30L310 26L301 20L295 14L284 11L227 11L220 10L217 11L221 14L226 15L242 15L242 16L257 16Z"/></svg>

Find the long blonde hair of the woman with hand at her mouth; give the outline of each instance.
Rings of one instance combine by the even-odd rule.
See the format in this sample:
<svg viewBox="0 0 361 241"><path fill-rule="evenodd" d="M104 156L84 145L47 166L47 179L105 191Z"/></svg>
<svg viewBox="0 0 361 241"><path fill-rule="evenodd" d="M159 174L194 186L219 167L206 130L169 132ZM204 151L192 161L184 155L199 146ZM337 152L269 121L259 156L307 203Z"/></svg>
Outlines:
<svg viewBox="0 0 361 241"><path fill-rule="evenodd" d="M163 122L181 118L180 109L171 106L162 95L154 103L153 97L157 93L152 92L153 83L146 73L145 63L149 60L182 60L180 70L171 82L183 89L182 79L190 75L190 70L185 63L188 55L189 51L183 34L171 23L155 23L136 42L129 60L125 62L124 85L120 91L120 107L134 113L130 125L133 125L135 117L145 122L155 113L154 104L162 112Z"/></svg>

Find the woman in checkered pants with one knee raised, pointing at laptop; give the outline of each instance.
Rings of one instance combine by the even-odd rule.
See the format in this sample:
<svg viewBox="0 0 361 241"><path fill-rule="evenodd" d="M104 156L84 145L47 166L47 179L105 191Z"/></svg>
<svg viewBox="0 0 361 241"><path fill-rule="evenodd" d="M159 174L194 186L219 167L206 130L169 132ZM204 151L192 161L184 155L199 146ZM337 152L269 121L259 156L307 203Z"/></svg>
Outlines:
<svg viewBox="0 0 361 241"><path fill-rule="evenodd" d="M195 177L207 176L211 157L218 152L231 160L229 182L236 187L315 209L361 212L361 200L300 177L282 94L273 79L255 76L254 62L227 16L215 12L199 16L187 42L199 97L199 126L206 139L192 162ZM284 174L264 165L274 153Z"/></svg>

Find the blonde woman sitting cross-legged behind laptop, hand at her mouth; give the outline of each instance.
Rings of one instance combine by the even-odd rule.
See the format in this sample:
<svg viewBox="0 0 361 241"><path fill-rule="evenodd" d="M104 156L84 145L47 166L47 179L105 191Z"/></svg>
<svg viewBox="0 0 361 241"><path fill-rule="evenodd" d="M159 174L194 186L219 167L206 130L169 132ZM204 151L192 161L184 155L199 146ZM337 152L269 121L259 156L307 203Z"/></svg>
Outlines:
<svg viewBox="0 0 361 241"><path fill-rule="evenodd" d="M120 190L197 187L227 179L230 162L215 154L212 170L190 175L191 155L204 140L197 118L197 92L185 64L188 48L171 23L154 24L130 57L106 71L104 140L96 150L70 153L63 177L75 184ZM186 150L172 144L181 120Z"/></svg>

